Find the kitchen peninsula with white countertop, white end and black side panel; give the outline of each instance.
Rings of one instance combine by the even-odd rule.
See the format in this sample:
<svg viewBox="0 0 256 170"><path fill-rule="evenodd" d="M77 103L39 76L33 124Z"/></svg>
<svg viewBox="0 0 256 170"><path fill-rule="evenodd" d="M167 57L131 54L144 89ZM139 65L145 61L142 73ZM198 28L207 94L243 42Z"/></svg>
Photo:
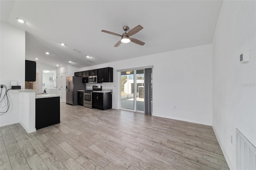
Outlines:
<svg viewBox="0 0 256 170"><path fill-rule="evenodd" d="M9 90L12 95L11 110L18 111L18 121L26 132L60 123L60 96L39 93L31 89ZM38 121L38 122L36 122Z"/></svg>

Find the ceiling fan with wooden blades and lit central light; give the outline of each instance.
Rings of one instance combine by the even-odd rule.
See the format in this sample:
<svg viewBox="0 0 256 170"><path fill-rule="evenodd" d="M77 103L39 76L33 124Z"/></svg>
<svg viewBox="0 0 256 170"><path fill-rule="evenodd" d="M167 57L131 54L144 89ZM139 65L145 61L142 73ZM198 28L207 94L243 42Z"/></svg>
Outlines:
<svg viewBox="0 0 256 170"><path fill-rule="evenodd" d="M128 43L128 42L134 42L134 43L139 44L139 45L144 45L145 44L144 42L142 42L140 40L137 40L135 38L130 38L130 36L136 34L140 30L142 30L143 29L142 26L138 25L138 26L132 28L132 30L130 30L128 33L126 32L127 30L129 30L128 26L124 26L123 29L124 29L125 33L123 33L122 36L120 34L116 34L114 32L110 32L110 31L106 31L106 30L101 30L101 31L106 32L108 34L112 34L114 36L121 37L121 40L119 42L117 42L116 45L114 45L114 47L118 47L118 45L120 45L121 43Z"/></svg>

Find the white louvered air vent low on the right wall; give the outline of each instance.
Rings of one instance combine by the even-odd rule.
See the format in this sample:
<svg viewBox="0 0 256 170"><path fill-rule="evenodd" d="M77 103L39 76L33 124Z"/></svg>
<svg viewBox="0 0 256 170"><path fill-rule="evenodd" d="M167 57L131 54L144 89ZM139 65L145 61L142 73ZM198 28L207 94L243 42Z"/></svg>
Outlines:
<svg viewBox="0 0 256 170"><path fill-rule="evenodd" d="M256 170L256 148L236 128L236 169Z"/></svg>

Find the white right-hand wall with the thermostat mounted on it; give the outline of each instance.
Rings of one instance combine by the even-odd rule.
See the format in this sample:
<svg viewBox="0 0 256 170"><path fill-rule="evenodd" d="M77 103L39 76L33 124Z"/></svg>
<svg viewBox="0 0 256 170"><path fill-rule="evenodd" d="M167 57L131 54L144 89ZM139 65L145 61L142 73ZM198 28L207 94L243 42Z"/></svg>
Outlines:
<svg viewBox="0 0 256 170"><path fill-rule="evenodd" d="M235 128L256 146L255 9L255 1L224 1L213 41L213 128L231 169L236 169ZM247 50L250 63L240 63Z"/></svg>

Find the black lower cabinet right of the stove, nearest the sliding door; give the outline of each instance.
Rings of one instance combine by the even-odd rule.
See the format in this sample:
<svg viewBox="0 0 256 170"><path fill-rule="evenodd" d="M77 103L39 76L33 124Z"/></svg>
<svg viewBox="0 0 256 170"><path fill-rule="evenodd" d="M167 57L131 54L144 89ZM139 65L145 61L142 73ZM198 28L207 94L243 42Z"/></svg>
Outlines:
<svg viewBox="0 0 256 170"><path fill-rule="evenodd" d="M112 92L98 93L93 92L93 108L107 110L112 108Z"/></svg>

